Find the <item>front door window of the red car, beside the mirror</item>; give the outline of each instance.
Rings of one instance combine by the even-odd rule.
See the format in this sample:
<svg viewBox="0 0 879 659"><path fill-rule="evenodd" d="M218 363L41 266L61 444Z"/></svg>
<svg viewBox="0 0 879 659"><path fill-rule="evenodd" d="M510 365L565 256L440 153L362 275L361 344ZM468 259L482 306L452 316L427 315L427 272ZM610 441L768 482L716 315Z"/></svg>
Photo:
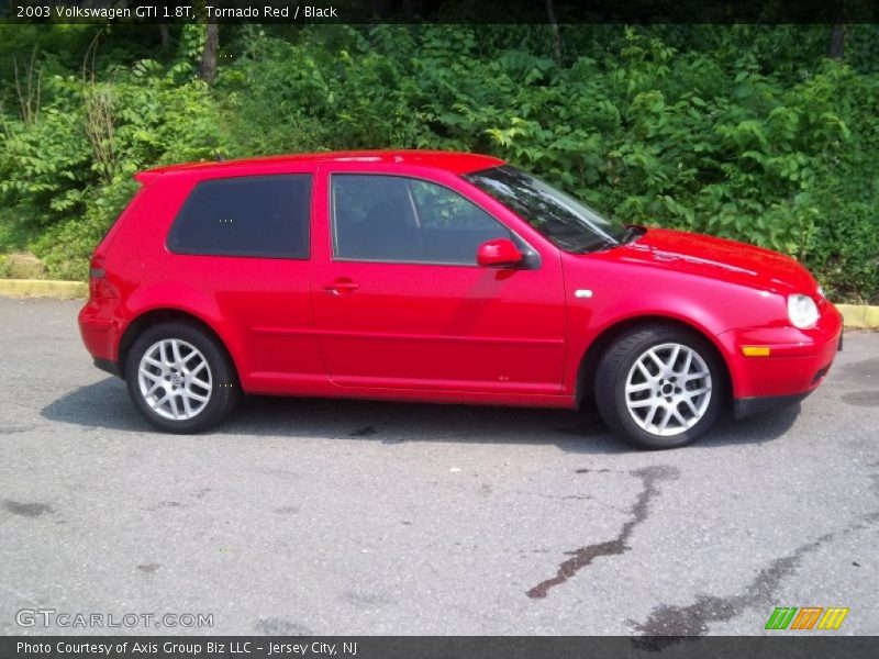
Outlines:
<svg viewBox="0 0 879 659"><path fill-rule="evenodd" d="M481 243L510 231L443 186L419 179L342 174L332 177L336 257L476 265Z"/></svg>

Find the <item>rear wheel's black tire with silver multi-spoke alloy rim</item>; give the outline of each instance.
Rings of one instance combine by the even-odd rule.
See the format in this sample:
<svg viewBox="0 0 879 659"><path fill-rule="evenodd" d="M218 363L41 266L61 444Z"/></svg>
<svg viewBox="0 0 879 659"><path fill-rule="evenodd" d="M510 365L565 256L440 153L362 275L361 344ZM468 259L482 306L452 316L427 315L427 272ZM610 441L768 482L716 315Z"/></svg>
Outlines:
<svg viewBox="0 0 879 659"><path fill-rule="evenodd" d="M147 396L141 390L140 366L145 353L158 342L171 339L183 342L180 345L188 344L190 347L196 348L200 353L197 359L203 357L203 361L207 362L208 367L210 388L196 389L199 394L208 400L203 403L194 403L196 405L200 404L201 407L189 418L168 418L163 416L162 413L151 406L147 402ZM191 355L192 353L186 354ZM158 367L155 367L154 371L155 373L162 372ZM182 370L180 376L183 377ZM162 377L169 380L171 376L169 375L165 378L165 376L153 375L151 377L155 379ZM134 406L151 424L167 433L190 434L205 431L225 418L241 398L241 387L235 367L225 348L204 327L198 323L187 321L160 323L148 327L141 334L132 345L125 359L125 382ZM175 391L185 389L183 382L179 382L179 389L175 389ZM168 387L171 387L170 381ZM162 393L163 390L159 389L156 396ZM175 412L182 405L181 395L182 391L171 394L171 398L176 396L173 403Z"/></svg>

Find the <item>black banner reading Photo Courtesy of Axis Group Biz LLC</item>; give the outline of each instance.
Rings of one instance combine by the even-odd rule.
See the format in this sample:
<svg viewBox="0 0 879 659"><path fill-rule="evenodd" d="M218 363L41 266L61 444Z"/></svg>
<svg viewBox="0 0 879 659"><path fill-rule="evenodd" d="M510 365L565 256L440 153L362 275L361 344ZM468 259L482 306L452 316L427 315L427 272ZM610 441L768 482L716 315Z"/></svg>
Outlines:
<svg viewBox="0 0 879 659"><path fill-rule="evenodd" d="M8 636L3 659L859 659L869 636L464 637L464 636Z"/></svg>

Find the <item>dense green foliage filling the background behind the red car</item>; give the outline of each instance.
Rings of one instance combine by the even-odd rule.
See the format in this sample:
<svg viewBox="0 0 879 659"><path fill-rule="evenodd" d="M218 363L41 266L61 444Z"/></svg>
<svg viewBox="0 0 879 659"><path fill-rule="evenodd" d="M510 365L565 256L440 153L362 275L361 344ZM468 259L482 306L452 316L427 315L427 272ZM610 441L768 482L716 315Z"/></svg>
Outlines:
<svg viewBox="0 0 879 659"><path fill-rule="evenodd" d="M157 31L115 27L93 79L71 64L92 33L57 30L57 48L38 44L37 120L0 94L0 248L31 247L53 276L85 275L138 169L453 148L624 222L785 252L837 299L879 299L874 25L848 27L846 62L824 58L823 25L561 25L558 57L546 25L223 26L213 88L196 78L203 26L148 59Z"/></svg>

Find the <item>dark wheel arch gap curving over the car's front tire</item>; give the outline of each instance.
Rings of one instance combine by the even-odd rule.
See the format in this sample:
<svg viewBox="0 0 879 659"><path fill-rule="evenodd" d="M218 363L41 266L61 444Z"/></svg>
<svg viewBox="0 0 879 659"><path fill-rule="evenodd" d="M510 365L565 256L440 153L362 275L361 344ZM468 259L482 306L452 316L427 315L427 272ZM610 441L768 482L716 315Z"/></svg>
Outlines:
<svg viewBox="0 0 879 659"><path fill-rule="evenodd" d="M730 364L727 362L723 350L717 345L717 342L708 332L705 332L703 328L699 327L693 323L688 323L687 321L683 321L675 316L650 314L650 315L634 316L616 321L604 327L598 334L598 336L596 336L596 338L593 338L589 343L589 346L586 348L586 351L580 358L580 364L577 370L576 400L578 407L582 404L582 402L586 399L592 395L593 386L596 381L596 371L598 369L598 362L600 361L601 356L604 354L608 347L619 336L628 331L635 330L637 327L644 327L657 324L677 326L681 330L686 330L703 338L711 347L711 349L714 350L715 357L722 365L723 378L726 383L727 399L732 399L732 392L733 392L732 371L730 369ZM728 403L728 400L726 402Z"/></svg>

